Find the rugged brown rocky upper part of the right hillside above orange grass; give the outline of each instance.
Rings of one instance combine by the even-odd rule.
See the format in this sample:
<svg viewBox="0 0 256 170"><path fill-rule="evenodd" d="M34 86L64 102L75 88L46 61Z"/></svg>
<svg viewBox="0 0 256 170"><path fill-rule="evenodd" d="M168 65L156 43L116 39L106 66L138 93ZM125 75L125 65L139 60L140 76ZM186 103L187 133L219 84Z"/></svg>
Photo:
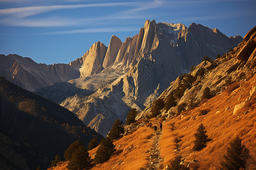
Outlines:
<svg viewBox="0 0 256 170"><path fill-rule="evenodd" d="M177 106L172 107L169 111L163 111L162 116L171 117L199 104L200 101L203 100L204 90L207 87L210 89L210 95L215 96L221 94L230 84L237 83L237 85L235 84L236 86L233 85L232 87L236 89L239 87L238 83L241 81L244 82L244 79L249 79L254 76L256 73L254 66L256 58L256 46L254 45L256 35L255 28L256 27L247 33L244 40L235 47L234 50L226 53L215 61L210 58L205 58L204 61L193 68L191 73L178 76L178 78L159 96L159 99L166 101L168 95L174 95L177 101ZM188 83L189 77L191 77L191 82ZM190 85L188 86L188 84ZM231 90L231 92L232 95L234 95L237 93L237 90ZM234 105L233 114L239 113L240 109L251 100L254 93L255 86L251 88L250 95L244 101L240 101ZM148 105L137 118L151 114L150 108L151 105ZM228 110L229 107L226 108L225 111Z"/></svg>

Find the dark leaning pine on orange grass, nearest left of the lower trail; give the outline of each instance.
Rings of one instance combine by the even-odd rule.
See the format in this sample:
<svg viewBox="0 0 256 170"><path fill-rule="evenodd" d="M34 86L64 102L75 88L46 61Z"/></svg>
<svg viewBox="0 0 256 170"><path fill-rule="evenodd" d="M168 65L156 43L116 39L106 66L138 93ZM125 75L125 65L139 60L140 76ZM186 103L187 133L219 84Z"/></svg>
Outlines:
<svg viewBox="0 0 256 170"><path fill-rule="evenodd" d="M115 146L109 138L102 138L100 145L94 158L94 163L96 164L104 163L109 160L110 156L113 155L115 151Z"/></svg>

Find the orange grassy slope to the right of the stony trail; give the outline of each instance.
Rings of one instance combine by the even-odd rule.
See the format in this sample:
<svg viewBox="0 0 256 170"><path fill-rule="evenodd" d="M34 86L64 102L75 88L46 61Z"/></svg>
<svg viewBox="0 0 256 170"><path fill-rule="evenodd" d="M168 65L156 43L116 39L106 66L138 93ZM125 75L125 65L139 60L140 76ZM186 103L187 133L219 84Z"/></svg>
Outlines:
<svg viewBox="0 0 256 170"><path fill-rule="evenodd" d="M218 169L220 159L226 154L228 143L235 137L242 139L242 144L250 150L251 156L256 160L256 95L238 111L233 114L235 105L249 99L250 91L256 86L256 75L245 80L240 86L230 86L220 95L214 96L200 107L181 113L163 125L163 134L160 141L163 164L170 165L175 155L181 155L185 162L198 160L199 169ZM236 88L237 87L237 88ZM200 111L208 110L206 115L200 116ZM249 112L248 112L249 111ZM205 126L208 137L212 141L201 151L193 151L195 133L200 124ZM175 137L181 141L180 148L176 150ZM188 164L187 163L187 164ZM250 164L249 168L256 168Z"/></svg>

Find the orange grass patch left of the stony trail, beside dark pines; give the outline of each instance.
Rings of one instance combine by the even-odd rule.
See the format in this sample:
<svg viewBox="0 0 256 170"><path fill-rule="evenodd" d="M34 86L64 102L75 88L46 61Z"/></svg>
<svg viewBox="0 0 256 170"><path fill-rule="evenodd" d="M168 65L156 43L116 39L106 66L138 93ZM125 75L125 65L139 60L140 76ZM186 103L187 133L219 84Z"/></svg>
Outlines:
<svg viewBox="0 0 256 170"><path fill-rule="evenodd" d="M114 155L103 164L98 164L92 169L139 169L145 167L149 153L148 148L152 143L148 140L154 131L150 128L141 127L131 134L128 134L114 142ZM89 151L89 155L94 158L97 148ZM67 169L67 162L59 164L51 170Z"/></svg>

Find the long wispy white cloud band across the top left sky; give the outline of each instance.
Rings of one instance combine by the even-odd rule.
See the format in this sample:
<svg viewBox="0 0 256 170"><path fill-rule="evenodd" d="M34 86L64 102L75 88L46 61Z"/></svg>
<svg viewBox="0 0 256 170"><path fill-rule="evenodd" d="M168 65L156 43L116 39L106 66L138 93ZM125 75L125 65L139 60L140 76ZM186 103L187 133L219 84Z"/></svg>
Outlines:
<svg viewBox="0 0 256 170"><path fill-rule="evenodd" d="M1 0L0 0L1 1ZM30 1L30 0L25 0ZM157 8L162 5L159 0L151 2L114 2L114 3L90 3L80 5L52 5L52 6L31 6L19 8L7 8L0 10L0 24L20 27L66 27L72 25L88 25L105 20L138 19L146 18L142 11ZM67 10L74 8L89 7L114 7L127 6L127 10L113 11L113 14L95 16L90 18L64 18L60 16L43 17L34 16L49 11ZM149 15L147 15L148 17Z"/></svg>

